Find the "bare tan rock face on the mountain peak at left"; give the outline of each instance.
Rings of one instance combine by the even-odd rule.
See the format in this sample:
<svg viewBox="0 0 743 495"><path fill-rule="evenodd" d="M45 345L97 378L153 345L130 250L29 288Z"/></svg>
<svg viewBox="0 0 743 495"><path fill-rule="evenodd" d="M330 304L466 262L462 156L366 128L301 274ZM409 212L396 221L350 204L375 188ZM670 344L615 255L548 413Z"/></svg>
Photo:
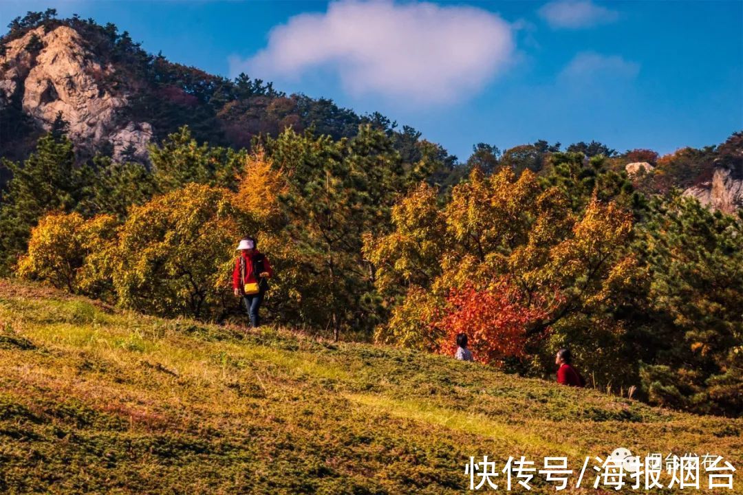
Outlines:
<svg viewBox="0 0 743 495"><path fill-rule="evenodd" d="M144 157L152 128L123 120L127 96L111 90L113 75L113 66L97 60L76 30L38 27L5 45L0 99L21 98L23 110L45 129L62 112L71 140L82 148L111 141L114 154L129 148Z"/></svg>

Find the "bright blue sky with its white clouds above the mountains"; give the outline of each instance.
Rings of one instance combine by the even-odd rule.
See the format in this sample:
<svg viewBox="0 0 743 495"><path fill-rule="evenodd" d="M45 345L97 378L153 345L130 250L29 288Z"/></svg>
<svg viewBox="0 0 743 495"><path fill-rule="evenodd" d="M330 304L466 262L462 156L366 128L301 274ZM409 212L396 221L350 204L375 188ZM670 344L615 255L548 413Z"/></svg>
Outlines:
<svg viewBox="0 0 743 495"><path fill-rule="evenodd" d="M666 153L743 129L742 1L0 0L1 25L47 7L173 62L380 111L461 160L476 142Z"/></svg>

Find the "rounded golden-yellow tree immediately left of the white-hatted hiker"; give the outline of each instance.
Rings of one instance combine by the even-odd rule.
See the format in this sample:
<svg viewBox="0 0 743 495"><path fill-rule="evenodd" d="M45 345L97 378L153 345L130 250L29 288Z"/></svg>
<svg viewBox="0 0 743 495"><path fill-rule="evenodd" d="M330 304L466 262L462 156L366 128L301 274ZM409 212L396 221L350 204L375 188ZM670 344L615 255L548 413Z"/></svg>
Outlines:
<svg viewBox="0 0 743 495"><path fill-rule="evenodd" d="M235 240L255 229L230 191L205 185L132 207L112 263L118 301L156 315L223 317L233 301L224 272L231 272Z"/></svg>

